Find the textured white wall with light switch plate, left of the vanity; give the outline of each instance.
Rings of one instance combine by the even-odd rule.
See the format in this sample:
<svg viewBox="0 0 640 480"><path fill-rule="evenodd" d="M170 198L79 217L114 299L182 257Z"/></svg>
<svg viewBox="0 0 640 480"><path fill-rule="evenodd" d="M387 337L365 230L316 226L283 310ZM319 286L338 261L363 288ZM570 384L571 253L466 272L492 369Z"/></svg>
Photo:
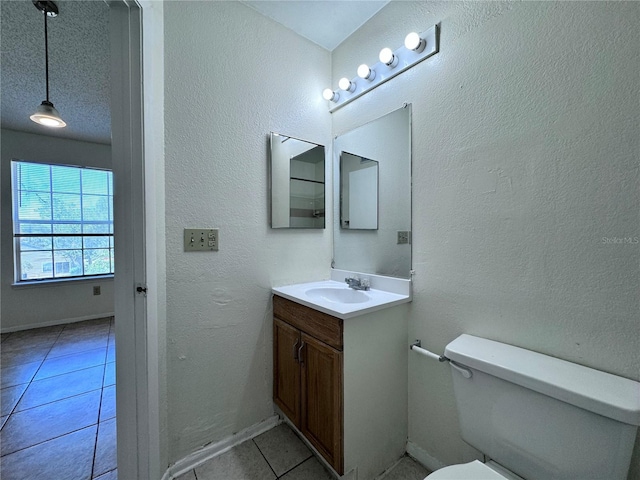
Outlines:
<svg viewBox="0 0 640 480"><path fill-rule="evenodd" d="M269 228L267 148L270 131L330 145L318 92L331 65L239 2L166 2L164 14L174 462L273 414L270 289L328 278L329 229ZM183 228L200 226L220 229L219 252L183 253Z"/></svg>

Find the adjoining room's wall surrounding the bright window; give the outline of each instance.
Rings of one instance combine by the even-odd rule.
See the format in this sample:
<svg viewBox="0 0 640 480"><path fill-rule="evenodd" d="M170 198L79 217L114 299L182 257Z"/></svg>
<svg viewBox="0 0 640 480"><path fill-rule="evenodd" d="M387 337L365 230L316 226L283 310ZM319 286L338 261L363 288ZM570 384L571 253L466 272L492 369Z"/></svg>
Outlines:
<svg viewBox="0 0 640 480"><path fill-rule="evenodd" d="M13 287L11 160L111 168L111 146L2 130L2 232L0 239L3 331L55 325L113 314L113 279ZM101 295L93 295L93 286Z"/></svg>

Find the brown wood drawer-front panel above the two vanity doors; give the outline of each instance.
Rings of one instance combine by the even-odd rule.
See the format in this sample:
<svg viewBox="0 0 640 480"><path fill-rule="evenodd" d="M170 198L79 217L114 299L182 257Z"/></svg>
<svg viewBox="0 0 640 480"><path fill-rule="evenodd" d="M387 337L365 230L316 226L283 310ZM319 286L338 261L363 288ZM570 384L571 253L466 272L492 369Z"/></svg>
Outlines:
<svg viewBox="0 0 640 480"><path fill-rule="evenodd" d="M273 315L318 340L342 350L341 318L318 312L277 295L273 297Z"/></svg>

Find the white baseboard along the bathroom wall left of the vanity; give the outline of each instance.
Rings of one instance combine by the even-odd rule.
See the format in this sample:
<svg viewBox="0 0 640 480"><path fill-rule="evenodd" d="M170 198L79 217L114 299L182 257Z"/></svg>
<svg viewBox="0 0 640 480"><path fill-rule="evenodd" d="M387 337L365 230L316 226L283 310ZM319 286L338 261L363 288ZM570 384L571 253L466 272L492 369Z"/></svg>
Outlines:
<svg viewBox="0 0 640 480"><path fill-rule="evenodd" d="M282 423L280 417L278 417L278 415L273 415L272 417L269 417L260 423L256 423L249 428L245 428L235 435L231 435L230 437L220 440L217 443L207 445L171 465L167 469L167 471L164 472L161 480L171 480L175 477L179 477L183 473L186 473L189 470L193 470L195 467L202 465L207 460L210 460L214 457L217 457L218 455L223 454L224 452L227 452L228 450L231 450L233 447L241 444L242 442L245 442L253 437L257 437L261 433L272 429L280 423Z"/></svg>

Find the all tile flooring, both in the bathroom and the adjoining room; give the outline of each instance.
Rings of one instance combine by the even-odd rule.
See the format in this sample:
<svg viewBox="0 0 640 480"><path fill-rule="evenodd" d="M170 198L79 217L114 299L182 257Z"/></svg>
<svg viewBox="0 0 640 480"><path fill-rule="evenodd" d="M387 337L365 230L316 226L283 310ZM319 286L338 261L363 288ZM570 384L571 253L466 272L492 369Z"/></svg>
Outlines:
<svg viewBox="0 0 640 480"><path fill-rule="evenodd" d="M2 334L2 480L117 480L112 318ZM429 472L404 457L384 480ZM286 424L176 480L332 480Z"/></svg>

